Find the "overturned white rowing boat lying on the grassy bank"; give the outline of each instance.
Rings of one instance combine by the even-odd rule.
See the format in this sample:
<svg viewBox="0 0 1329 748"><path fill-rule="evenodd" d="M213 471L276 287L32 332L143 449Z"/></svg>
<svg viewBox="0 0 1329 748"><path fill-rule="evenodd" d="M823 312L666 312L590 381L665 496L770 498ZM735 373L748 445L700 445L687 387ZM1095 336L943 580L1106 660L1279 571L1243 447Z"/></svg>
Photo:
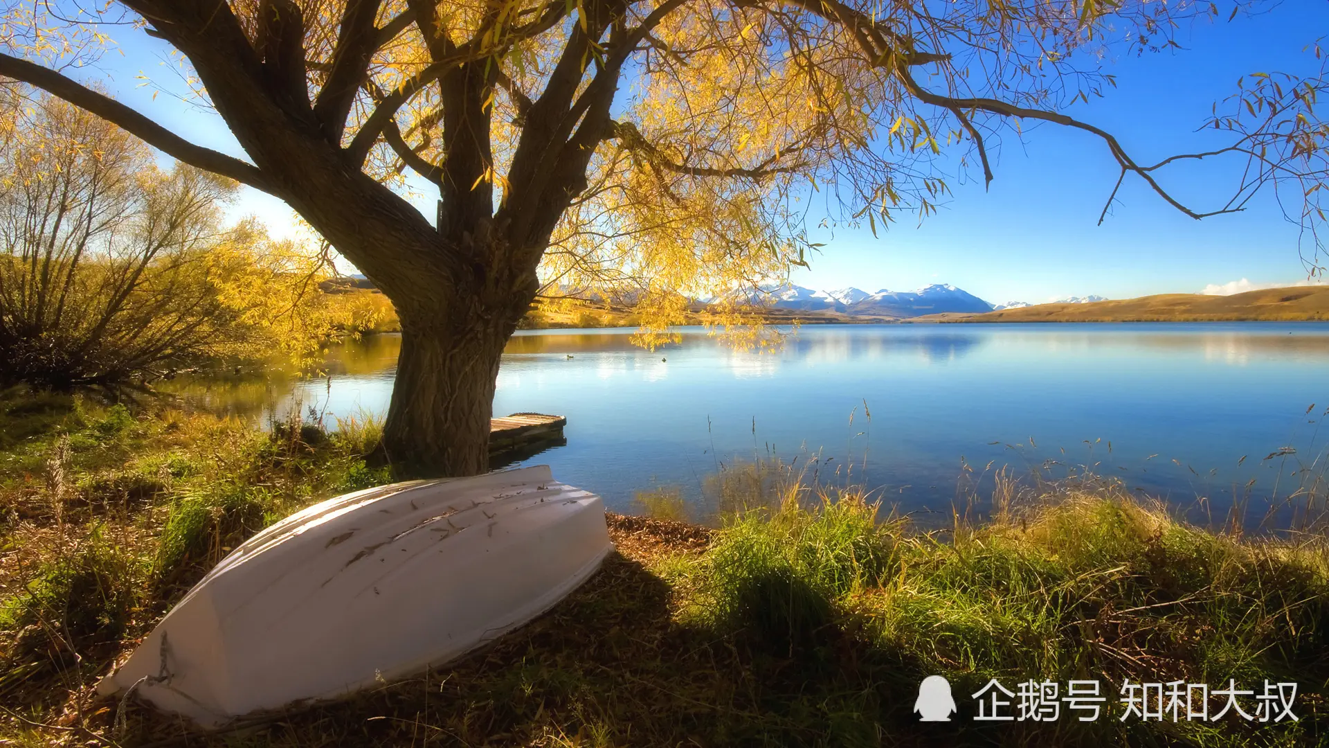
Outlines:
<svg viewBox="0 0 1329 748"><path fill-rule="evenodd" d="M215 727L445 664L549 610L613 550L548 466L358 491L246 540L98 684Z"/></svg>

